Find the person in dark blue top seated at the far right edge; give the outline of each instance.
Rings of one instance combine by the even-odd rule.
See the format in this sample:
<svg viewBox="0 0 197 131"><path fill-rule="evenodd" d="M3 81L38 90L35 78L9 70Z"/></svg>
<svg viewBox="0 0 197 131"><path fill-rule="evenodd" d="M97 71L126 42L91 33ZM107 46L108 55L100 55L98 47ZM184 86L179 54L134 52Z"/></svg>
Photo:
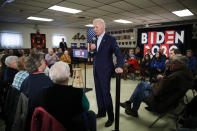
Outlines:
<svg viewBox="0 0 197 131"><path fill-rule="evenodd" d="M188 58L188 68L195 73L196 69L196 57L193 56L192 50L187 50L186 56Z"/></svg>

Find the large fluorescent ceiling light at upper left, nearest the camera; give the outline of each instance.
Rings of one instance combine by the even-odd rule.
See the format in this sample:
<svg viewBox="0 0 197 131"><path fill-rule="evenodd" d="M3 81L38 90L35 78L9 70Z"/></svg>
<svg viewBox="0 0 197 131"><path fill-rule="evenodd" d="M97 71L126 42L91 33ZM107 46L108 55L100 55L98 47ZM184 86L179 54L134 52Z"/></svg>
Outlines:
<svg viewBox="0 0 197 131"><path fill-rule="evenodd" d="M82 12L81 10L76 10L76 9L57 6L57 5L51 6L51 7L49 7L49 9L56 10L56 11L62 11L62 12L66 12L66 13L72 13L72 14Z"/></svg>

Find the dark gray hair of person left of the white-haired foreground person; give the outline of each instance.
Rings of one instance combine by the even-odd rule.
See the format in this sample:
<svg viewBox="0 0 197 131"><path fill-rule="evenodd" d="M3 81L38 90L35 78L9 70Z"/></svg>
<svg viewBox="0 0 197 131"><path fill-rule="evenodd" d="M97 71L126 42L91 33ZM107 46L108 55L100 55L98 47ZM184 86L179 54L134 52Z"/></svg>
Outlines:
<svg viewBox="0 0 197 131"><path fill-rule="evenodd" d="M44 60L43 54L33 53L29 57L27 57L27 61L25 62L26 70L29 73L34 71L38 71L38 67L41 66L41 61Z"/></svg>

